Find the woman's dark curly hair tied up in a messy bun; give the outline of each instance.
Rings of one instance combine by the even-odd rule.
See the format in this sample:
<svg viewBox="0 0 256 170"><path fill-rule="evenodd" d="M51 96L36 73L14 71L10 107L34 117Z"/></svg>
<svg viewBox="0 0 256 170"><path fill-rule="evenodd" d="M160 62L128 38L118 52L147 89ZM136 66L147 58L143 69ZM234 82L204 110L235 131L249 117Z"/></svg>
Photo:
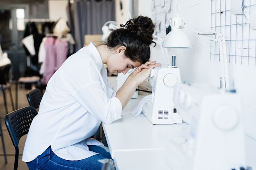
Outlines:
<svg viewBox="0 0 256 170"><path fill-rule="evenodd" d="M121 24L120 26L123 28L116 29L110 33L106 45L109 48L125 46L126 57L135 62L146 63L150 58L149 46L155 43L152 36L155 24L150 18L139 16L128 20L126 24Z"/></svg>

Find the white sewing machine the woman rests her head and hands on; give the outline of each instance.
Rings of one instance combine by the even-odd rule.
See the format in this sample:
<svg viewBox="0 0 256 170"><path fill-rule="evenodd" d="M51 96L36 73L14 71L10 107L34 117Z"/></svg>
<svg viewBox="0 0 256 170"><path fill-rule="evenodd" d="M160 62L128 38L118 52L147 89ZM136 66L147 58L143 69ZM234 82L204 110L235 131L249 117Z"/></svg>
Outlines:
<svg viewBox="0 0 256 170"><path fill-rule="evenodd" d="M180 124L180 117L173 103L173 87L181 81L180 69L169 65L151 69L148 78L152 88L151 100L144 103L142 113L152 124Z"/></svg>

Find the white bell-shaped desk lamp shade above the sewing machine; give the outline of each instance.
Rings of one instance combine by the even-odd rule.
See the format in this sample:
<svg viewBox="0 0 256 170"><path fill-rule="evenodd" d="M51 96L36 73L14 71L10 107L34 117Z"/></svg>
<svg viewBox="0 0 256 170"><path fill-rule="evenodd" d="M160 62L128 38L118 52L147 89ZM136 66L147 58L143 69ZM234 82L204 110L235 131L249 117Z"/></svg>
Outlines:
<svg viewBox="0 0 256 170"><path fill-rule="evenodd" d="M184 22L182 21L182 17L173 17L171 26L172 31L164 38L162 47L191 48L189 38L183 32Z"/></svg>

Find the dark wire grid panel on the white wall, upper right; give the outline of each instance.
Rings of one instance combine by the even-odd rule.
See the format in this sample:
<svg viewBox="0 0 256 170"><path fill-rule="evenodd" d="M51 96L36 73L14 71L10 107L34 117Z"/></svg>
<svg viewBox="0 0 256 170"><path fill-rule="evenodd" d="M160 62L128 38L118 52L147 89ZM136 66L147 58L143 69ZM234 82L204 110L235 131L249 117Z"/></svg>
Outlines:
<svg viewBox="0 0 256 170"><path fill-rule="evenodd" d="M211 30L225 33L229 63L256 66L256 0L211 0ZM211 60L220 60L215 41Z"/></svg>

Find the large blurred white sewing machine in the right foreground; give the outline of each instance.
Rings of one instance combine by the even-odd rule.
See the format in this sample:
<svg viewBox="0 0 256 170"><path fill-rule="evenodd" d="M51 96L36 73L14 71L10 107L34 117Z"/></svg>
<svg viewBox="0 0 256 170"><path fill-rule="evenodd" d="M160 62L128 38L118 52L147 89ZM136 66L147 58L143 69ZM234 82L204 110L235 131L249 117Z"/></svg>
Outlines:
<svg viewBox="0 0 256 170"><path fill-rule="evenodd" d="M189 136L168 142L166 161L172 170L246 169L238 94L178 83L173 100L182 119L189 124Z"/></svg>

